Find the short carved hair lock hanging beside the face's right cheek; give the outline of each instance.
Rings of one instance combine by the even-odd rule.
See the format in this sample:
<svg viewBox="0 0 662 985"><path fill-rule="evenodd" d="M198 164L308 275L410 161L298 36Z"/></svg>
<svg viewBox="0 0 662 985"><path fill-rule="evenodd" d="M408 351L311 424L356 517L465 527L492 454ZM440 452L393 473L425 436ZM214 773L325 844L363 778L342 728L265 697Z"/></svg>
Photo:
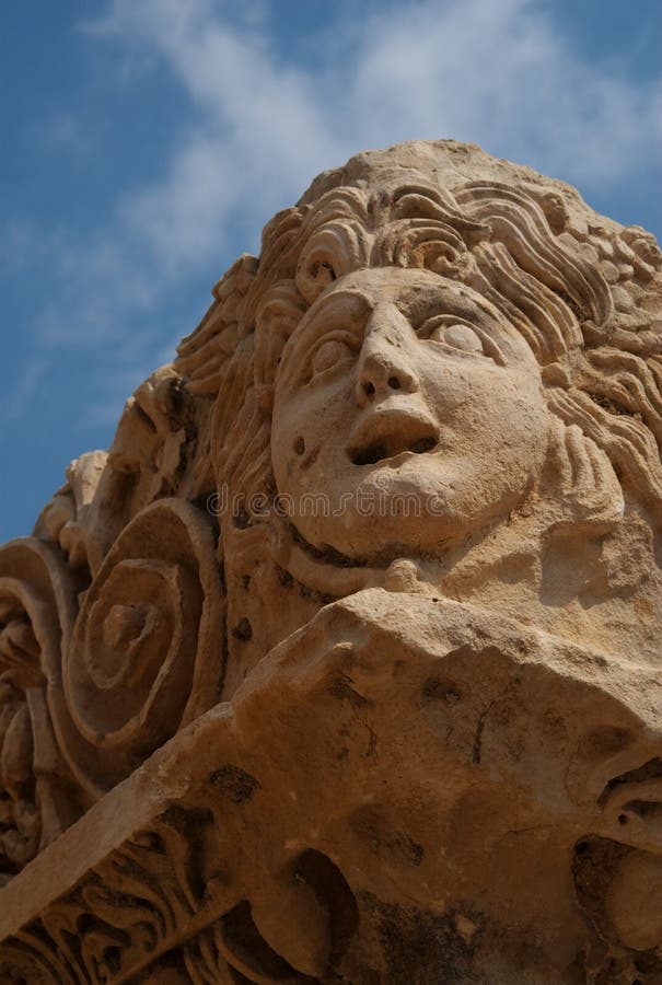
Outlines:
<svg viewBox="0 0 662 985"><path fill-rule="evenodd" d="M556 501L555 530L606 528L622 519L623 489L606 454L577 425L554 420L544 491Z"/></svg>

